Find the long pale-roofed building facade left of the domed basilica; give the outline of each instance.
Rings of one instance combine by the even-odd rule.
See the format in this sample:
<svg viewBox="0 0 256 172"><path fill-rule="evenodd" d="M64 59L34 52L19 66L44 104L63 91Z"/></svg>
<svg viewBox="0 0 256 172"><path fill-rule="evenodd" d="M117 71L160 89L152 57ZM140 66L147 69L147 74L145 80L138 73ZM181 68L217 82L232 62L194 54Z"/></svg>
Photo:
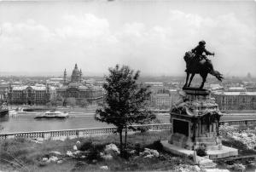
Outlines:
<svg viewBox="0 0 256 172"><path fill-rule="evenodd" d="M50 86L11 86L9 103L15 105L45 105L56 96L56 90Z"/></svg>

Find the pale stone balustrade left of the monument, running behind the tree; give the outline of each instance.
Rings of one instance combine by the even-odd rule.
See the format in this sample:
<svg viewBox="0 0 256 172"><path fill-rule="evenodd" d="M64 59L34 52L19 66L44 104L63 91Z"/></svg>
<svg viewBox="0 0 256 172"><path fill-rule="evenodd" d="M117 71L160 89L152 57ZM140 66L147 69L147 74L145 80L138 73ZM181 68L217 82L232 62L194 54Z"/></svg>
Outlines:
<svg viewBox="0 0 256 172"><path fill-rule="evenodd" d="M149 129L150 131L171 129L171 123L158 123L158 124L145 124L145 125L132 125L133 128ZM63 129L63 130L49 130L49 131L32 131L32 132L19 132L19 133L3 133L0 134L0 140L9 138L30 138L44 140L55 140L58 138L78 138L94 135L109 135L116 131L115 127L106 128L92 128L92 129ZM127 130L128 133L134 132L132 129Z"/></svg>

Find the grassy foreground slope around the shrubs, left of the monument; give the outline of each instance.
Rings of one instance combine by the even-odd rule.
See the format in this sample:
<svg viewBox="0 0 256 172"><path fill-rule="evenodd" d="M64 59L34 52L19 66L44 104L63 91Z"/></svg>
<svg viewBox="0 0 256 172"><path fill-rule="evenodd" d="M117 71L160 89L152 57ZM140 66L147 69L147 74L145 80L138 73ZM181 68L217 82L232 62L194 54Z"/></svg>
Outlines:
<svg viewBox="0 0 256 172"><path fill-rule="evenodd" d="M170 131L137 133L128 135L130 148L139 146L152 147L155 140L166 140ZM81 143L92 141L94 144L119 143L117 135L101 137L79 138L74 140L46 140L43 144L34 143L27 140L3 140L0 142L0 170L19 170L19 171L99 171L100 166L108 165L110 170L156 170L173 169L179 163L189 163L189 160L176 158L164 151L160 152L160 158L135 158L128 160L115 157L112 161L99 161L89 163L81 159L66 159L64 163L49 163L43 165L42 158L49 156L49 152L57 151L65 154L67 150L73 150L76 141Z"/></svg>

